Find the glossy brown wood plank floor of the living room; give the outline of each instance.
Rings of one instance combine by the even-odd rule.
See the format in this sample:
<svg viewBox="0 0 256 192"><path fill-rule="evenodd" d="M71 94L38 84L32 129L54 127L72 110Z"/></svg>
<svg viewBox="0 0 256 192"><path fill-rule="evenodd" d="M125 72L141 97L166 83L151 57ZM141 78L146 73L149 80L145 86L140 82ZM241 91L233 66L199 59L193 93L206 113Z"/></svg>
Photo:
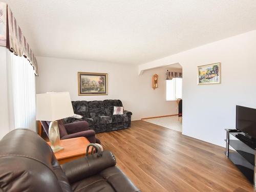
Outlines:
<svg viewBox="0 0 256 192"><path fill-rule="evenodd" d="M145 121L97 134L142 191L254 191L225 148Z"/></svg>

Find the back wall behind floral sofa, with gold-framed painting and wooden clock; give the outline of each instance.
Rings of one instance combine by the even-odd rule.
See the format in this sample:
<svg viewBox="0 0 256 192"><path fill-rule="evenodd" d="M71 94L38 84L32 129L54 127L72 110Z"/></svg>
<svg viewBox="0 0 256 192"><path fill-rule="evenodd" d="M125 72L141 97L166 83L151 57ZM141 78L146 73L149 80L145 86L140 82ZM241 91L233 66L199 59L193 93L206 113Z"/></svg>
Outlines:
<svg viewBox="0 0 256 192"><path fill-rule="evenodd" d="M132 120L177 114L176 102L165 100L165 69L152 69L138 76L138 67L116 63L36 57L39 76L36 92L70 92L72 100L120 99ZM78 96L77 72L109 74L109 95ZM159 74L159 88L152 89L152 75Z"/></svg>

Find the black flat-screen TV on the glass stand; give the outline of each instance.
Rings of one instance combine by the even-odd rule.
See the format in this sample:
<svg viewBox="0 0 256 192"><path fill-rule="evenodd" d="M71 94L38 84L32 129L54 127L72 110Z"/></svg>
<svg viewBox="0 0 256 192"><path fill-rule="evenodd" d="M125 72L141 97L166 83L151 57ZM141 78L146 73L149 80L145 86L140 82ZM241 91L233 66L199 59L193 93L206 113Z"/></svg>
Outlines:
<svg viewBox="0 0 256 192"><path fill-rule="evenodd" d="M237 105L236 129L256 138L256 109Z"/></svg>

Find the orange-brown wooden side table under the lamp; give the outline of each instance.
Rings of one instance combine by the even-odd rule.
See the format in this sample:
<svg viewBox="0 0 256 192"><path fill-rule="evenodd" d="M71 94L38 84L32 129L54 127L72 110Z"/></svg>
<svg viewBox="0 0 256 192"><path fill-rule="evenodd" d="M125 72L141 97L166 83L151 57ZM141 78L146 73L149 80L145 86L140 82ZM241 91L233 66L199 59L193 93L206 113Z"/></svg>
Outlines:
<svg viewBox="0 0 256 192"><path fill-rule="evenodd" d="M50 146L50 142L47 142ZM60 140L60 146L64 150L54 153L59 164L67 163L69 161L84 157L86 155L86 148L90 144L85 137L76 137L71 139ZM89 153L91 150L89 150Z"/></svg>

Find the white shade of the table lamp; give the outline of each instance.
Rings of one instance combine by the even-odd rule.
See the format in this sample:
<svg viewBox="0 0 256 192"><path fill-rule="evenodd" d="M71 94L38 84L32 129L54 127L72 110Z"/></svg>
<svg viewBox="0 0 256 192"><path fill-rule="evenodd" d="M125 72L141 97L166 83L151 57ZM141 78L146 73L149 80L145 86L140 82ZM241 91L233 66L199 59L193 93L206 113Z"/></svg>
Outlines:
<svg viewBox="0 0 256 192"><path fill-rule="evenodd" d="M36 94L36 120L56 121L73 115L69 92Z"/></svg>

